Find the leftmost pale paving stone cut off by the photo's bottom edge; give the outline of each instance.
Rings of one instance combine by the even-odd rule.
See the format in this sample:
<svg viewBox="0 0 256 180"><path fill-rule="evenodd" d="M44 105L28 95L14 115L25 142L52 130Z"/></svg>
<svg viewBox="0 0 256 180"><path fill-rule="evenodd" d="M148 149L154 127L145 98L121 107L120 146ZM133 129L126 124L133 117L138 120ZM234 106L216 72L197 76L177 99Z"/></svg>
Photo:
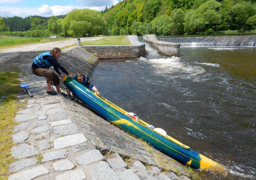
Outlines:
<svg viewBox="0 0 256 180"><path fill-rule="evenodd" d="M28 169L22 172L18 172L16 174L12 174L9 176L8 180L31 180L37 176L41 176L47 173L49 173L47 168L45 168L44 166L38 166L33 169Z"/></svg>

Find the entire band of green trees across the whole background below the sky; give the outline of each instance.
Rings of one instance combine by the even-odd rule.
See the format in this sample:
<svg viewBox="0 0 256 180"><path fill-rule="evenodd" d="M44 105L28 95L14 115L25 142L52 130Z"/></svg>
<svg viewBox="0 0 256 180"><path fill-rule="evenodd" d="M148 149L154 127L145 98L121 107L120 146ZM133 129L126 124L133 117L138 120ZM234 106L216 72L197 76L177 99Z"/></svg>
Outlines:
<svg viewBox="0 0 256 180"><path fill-rule="evenodd" d="M0 34L24 37L256 32L256 0L123 0L101 12L0 18Z"/></svg>

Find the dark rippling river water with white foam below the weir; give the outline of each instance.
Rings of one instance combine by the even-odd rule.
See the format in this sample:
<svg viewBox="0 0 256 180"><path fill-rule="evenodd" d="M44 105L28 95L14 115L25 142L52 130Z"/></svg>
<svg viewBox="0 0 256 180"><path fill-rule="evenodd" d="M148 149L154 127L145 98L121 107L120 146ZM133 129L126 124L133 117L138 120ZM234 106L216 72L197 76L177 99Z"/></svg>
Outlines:
<svg viewBox="0 0 256 180"><path fill-rule="evenodd" d="M146 42L144 42L146 43ZM100 59L90 80L101 95L191 149L222 164L226 176L256 179L256 47L181 47Z"/></svg>

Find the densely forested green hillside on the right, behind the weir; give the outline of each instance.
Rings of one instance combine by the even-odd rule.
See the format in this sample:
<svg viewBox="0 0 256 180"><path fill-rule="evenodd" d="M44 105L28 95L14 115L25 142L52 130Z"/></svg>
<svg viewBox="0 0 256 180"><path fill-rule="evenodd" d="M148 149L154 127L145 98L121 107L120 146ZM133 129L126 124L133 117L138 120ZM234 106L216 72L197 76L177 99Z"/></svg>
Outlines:
<svg viewBox="0 0 256 180"><path fill-rule="evenodd" d="M256 29L256 0L124 0L102 11L112 35ZM255 31L253 31L255 32Z"/></svg>

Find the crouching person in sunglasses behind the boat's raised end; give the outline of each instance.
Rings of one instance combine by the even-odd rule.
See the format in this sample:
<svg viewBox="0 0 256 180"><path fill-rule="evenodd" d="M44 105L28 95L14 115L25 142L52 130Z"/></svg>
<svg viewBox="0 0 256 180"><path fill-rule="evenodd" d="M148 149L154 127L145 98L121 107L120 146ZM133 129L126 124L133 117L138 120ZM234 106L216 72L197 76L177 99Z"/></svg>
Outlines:
<svg viewBox="0 0 256 180"><path fill-rule="evenodd" d="M81 83L83 86L87 87L88 89L92 89L93 91L97 92L97 95L100 96L100 91L98 91L98 89L92 85L89 81L89 77L85 76L83 73L77 73L76 75L73 76L73 79L76 80L77 82ZM67 95L70 99L75 100L79 99L73 92L71 96L71 91L69 89L67 89Z"/></svg>

